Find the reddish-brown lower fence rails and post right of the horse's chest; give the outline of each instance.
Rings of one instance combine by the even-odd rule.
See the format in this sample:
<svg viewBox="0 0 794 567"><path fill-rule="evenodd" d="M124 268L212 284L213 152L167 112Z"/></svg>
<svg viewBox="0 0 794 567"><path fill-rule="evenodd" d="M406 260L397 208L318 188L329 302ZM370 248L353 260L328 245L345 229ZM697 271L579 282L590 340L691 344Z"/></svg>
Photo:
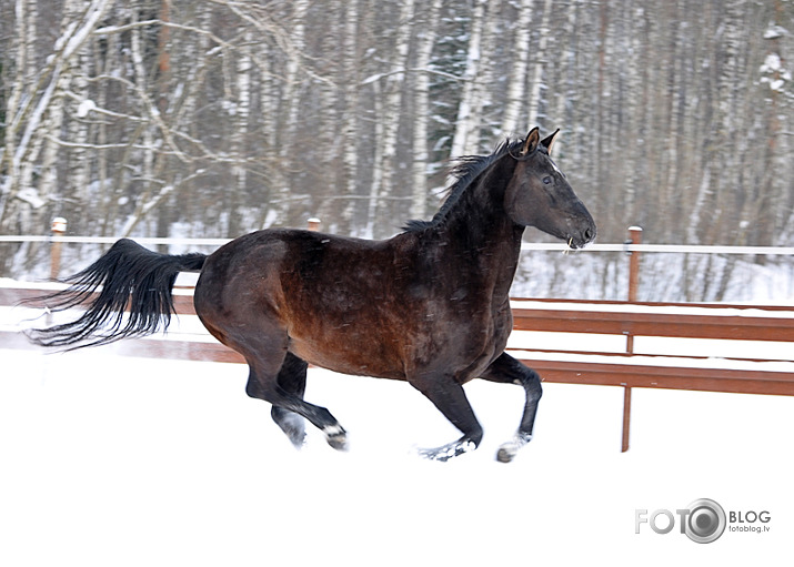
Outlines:
<svg viewBox="0 0 794 567"><path fill-rule="evenodd" d="M572 333L584 338L559 347L512 354L545 382L624 388L622 450L629 448L633 387L794 395L794 307L691 303L515 301L514 330ZM624 352L576 348L593 335L625 337ZM713 357L675 352L639 353L642 337L717 340L736 355ZM780 344L774 358L742 354L747 342ZM744 343L744 344L742 344Z"/></svg>

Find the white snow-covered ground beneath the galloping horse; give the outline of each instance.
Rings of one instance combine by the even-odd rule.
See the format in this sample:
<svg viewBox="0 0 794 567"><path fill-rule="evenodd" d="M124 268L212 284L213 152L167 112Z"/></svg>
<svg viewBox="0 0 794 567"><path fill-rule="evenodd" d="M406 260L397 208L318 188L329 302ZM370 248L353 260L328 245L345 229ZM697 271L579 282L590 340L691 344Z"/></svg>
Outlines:
<svg viewBox="0 0 794 567"><path fill-rule="evenodd" d="M413 447L456 432L404 383L311 369L306 397L351 449L310 431L297 452L241 365L2 345L0 361L2 566L792 561L788 397L635 389L621 454L622 389L547 384L534 441L503 465L523 392L475 381L483 444L430 463ZM637 508L704 497L768 512L770 530L635 534Z"/></svg>

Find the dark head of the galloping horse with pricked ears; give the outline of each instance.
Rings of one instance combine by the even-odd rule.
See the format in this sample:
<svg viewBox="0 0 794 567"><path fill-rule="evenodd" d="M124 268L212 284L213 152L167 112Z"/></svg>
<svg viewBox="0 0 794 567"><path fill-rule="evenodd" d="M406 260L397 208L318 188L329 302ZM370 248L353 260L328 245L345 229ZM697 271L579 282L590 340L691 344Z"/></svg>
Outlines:
<svg viewBox="0 0 794 567"><path fill-rule="evenodd" d="M595 239L595 222L551 159L559 132L541 140L537 128L533 128L520 150L510 152L517 163L507 183L504 207L516 224L534 226L579 249Z"/></svg>

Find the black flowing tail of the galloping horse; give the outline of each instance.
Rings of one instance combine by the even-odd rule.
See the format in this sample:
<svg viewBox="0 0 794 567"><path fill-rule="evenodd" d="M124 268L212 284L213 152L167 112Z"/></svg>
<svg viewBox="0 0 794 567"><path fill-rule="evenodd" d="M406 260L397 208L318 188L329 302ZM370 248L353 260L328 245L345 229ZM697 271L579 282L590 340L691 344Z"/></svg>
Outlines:
<svg viewBox="0 0 794 567"><path fill-rule="evenodd" d="M201 270L204 260L207 255L198 253L158 254L122 239L97 262L66 279L69 288L31 300L43 302L51 311L63 311L89 302L88 303L88 311L71 323L32 330L28 337L42 346L71 350L164 330L174 311L171 290L177 274Z"/></svg>

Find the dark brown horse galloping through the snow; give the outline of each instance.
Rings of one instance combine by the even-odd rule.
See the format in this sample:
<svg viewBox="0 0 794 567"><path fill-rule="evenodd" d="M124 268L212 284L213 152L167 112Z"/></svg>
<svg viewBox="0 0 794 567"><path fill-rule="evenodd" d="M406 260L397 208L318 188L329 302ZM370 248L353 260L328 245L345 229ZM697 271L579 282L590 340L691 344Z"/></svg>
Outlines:
<svg viewBox="0 0 794 567"><path fill-rule="evenodd" d="M573 249L595 237L593 217L550 158L557 132L540 140L535 128L491 155L461 159L453 170L458 181L435 216L411 221L385 241L267 230L207 256L158 254L120 240L68 279L70 288L48 298L50 307L63 310L89 301L101 285L84 314L31 338L80 347L154 333L173 311L177 273L201 271L197 314L245 357L245 392L272 404L273 419L294 445L303 443L305 418L332 447L346 446L331 413L303 399L311 363L408 381L463 434L422 450L439 460L476 448L483 436L463 384L520 384L524 414L497 454L511 460L532 437L541 397L539 375L504 353L524 227Z"/></svg>

